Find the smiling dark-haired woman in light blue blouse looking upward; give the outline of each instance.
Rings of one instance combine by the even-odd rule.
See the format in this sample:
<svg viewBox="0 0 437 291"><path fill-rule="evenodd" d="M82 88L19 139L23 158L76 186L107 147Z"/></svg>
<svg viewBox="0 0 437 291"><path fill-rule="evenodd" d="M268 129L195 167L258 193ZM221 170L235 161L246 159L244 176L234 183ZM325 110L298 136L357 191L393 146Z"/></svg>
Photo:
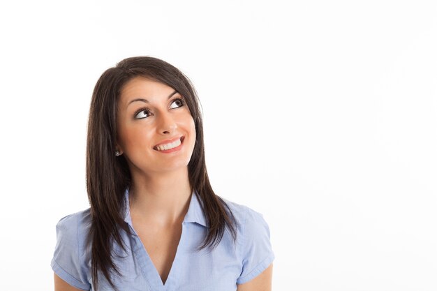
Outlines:
<svg viewBox="0 0 437 291"><path fill-rule="evenodd" d="M198 97L165 61L124 59L98 80L87 191L91 207L57 224L56 291L271 290L269 227L214 194Z"/></svg>

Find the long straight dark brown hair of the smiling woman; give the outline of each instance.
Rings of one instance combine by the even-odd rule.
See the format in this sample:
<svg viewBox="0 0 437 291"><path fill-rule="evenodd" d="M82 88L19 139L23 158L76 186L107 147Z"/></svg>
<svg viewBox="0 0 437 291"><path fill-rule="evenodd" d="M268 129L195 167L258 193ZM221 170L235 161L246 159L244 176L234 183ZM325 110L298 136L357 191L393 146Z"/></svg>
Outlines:
<svg viewBox="0 0 437 291"><path fill-rule="evenodd" d="M124 156L115 156L117 140L117 106L121 89L133 77L147 77L167 84L184 96L195 123L196 140L188 177L191 188L198 193L202 211L207 218L207 235L198 249L214 248L222 239L225 227L236 239L237 222L228 205L212 190L205 165L202 117L193 84L180 70L161 59L131 57L106 70L94 88L89 110L87 136L87 192L91 206L91 275L98 286L98 271L112 288L111 271L120 274L114 263L113 243L125 248L119 230L131 231L124 221L124 193L131 186L131 173Z"/></svg>

